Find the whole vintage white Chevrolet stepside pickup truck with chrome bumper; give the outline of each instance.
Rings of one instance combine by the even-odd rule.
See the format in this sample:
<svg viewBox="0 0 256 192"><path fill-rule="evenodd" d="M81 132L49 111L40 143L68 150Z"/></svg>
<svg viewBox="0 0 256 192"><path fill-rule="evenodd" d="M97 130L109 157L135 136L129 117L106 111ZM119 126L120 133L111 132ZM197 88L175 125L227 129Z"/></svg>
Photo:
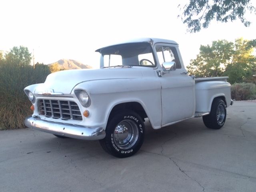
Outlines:
<svg viewBox="0 0 256 192"><path fill-rule="evenodd" d="M154 129L201 116L208 128L224 125L233 103L228 77L189 76L176 42L145 38L96 52L100 69L55 72L24 89L34 110L27 127L99 140L122 158L142 146L145 118Z"/></svg>

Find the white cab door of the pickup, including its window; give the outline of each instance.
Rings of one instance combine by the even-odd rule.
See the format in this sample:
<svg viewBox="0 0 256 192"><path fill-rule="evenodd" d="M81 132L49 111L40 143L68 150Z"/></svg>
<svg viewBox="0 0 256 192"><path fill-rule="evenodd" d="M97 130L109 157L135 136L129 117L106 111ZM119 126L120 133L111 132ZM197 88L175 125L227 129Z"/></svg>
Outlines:
<svg viewBox="0 0 256 192"><path fill-rule="evenodd" d="M190 118L195 110L195 83L181 64L180 53L175 45L157 45L156 54L161 67L163 62L176 62L176 70L159 77L162 86L162 126Z"/></svg>

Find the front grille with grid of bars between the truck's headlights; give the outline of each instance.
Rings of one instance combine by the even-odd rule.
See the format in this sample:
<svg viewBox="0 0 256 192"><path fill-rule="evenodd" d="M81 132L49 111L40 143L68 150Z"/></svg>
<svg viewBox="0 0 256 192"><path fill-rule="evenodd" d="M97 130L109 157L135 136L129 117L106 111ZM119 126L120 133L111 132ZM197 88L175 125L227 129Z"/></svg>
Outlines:
<svg viewBox="0 0 256 192"><path fill-rule="evenodd" d="M42 99L38 101L38 109L39 113L46 117L82 120L78 105L72 101Z"/></svg>

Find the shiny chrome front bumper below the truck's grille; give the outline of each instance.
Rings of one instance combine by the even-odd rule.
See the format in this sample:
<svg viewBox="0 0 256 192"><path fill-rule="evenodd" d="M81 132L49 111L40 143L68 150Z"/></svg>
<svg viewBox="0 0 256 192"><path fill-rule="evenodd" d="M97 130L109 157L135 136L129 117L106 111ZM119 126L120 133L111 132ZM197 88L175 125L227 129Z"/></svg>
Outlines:
<svg viewBox="0 0 256 192"><path fill-rule="evenodd" d="M106 132L102 127L85 127L67 123L42 120L39 117L28 116L25 125L43 132L83 140L100 140L105 138Z"/></svg>

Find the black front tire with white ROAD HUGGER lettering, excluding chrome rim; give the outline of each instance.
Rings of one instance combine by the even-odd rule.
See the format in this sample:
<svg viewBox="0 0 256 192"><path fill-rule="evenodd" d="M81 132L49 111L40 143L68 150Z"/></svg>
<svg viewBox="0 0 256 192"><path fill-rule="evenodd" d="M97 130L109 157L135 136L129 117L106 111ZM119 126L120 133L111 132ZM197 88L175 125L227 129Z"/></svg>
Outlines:
<svg viewBox="0 0 256 192"><path fill-rule="evenodd" d="M133 121L138 128L138 139L136 143L128 148L128 149L121 149L119 148L116 143L114 142L114 130L116 126L123 120L131 120ZM140 147L142 146L144 140L144 123L142 118L136 114L135 112L120 112L110 120L106 128L106 137L105 142L106 146L111 150L112 154L117 157L128 157L135 154Z"/></svg>

